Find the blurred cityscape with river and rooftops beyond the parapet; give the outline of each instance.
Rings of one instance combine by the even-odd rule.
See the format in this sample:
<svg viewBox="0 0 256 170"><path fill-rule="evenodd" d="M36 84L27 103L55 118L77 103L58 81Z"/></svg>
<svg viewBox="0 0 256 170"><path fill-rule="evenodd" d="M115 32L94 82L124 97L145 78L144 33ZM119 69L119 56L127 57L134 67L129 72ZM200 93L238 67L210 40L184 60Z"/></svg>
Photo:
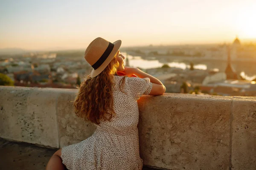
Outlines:
<svg viewBox="0 0 256 170"><path fill-rule="evenodd" d="M0 73L10 85L77 88L91 70L83 50L10 50L0 51ZM126 66L157 77L166 93L256 96L256 45L243 44L238 37L229 44L148 45L120 51Z"/></svg>

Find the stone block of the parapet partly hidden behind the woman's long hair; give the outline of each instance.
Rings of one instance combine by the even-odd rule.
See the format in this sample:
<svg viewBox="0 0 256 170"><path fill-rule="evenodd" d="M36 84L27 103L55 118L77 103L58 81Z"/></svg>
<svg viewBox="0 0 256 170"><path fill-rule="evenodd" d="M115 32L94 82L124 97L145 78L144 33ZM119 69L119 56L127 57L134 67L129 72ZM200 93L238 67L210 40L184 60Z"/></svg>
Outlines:
<svg viewBox="0 0 256 170"><path fill-rule="evenodd" d="M58 138L60 147L81 142L90 137L96 126L74 113L76 90L63 90L57 101Z"/></svg>

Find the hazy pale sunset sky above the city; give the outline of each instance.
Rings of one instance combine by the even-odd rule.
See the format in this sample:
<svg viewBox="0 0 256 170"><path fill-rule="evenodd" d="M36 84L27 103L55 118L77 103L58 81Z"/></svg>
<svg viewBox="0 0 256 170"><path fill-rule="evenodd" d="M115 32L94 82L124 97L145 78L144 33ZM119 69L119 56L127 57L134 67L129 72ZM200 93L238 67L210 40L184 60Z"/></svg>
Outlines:
<svg viewBox="0 0 256 170"><path fill-rule="evenodd" d="M0 48L86 48L256 38L256 0L0 0Z"/></svg>

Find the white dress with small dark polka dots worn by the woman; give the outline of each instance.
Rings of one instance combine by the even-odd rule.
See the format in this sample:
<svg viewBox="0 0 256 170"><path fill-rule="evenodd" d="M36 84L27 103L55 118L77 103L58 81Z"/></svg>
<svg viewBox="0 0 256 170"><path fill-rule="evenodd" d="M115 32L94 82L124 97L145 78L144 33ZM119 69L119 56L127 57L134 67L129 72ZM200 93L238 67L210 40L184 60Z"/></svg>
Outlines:
<svg viewBox="0 0 256 170"><path fill-rule="evenodd" d="M68 170L141 170L139 153L137 100L150 93L149 78L114 76L112 121L100 122L92 136L78 144L63 147L61 159Z"/></svg>

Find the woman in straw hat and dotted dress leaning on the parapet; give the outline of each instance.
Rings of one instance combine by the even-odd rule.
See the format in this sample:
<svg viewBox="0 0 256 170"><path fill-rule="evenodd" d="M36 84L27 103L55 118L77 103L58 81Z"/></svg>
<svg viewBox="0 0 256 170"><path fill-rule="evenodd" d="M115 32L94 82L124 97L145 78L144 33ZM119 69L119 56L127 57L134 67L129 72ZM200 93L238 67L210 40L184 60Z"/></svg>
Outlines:
<svg viewBox="0 0 256 170"><path fill-rule="evenodd" d="M162 95L164 85L138 68L125 67L121 40L100 37L87 47L84 58L93 67L81 83L75 113L96 125L84 141L53 154L47 170L141 170L137 100L143 94Z"/></svg>

